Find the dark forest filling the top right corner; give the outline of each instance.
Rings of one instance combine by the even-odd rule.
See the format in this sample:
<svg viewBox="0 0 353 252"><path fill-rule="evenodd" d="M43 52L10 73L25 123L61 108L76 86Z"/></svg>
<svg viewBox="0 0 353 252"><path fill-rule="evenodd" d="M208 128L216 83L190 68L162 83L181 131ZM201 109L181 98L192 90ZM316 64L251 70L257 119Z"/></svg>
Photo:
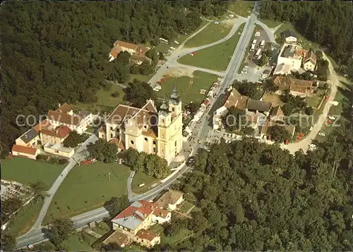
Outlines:
<svg viewBox="0 0 353 252"><path fill-rule="evenodd" d="M261 18L289 22L307 39L328 49L353 78L352 1L263 1Z"/></svg>

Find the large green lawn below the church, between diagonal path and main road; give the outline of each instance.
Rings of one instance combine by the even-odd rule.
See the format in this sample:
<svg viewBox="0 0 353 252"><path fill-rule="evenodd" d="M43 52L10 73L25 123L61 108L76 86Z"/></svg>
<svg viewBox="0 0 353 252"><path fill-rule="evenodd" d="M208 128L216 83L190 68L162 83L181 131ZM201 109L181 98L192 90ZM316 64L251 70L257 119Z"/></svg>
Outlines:
<svg viewBox="0 0 353 252"><path fill-rule="evenodd" d="M56 191L44 222L100 208L112 197L126 194L129 174L126 166L116 163L97 162L74 167Z"/></svg>

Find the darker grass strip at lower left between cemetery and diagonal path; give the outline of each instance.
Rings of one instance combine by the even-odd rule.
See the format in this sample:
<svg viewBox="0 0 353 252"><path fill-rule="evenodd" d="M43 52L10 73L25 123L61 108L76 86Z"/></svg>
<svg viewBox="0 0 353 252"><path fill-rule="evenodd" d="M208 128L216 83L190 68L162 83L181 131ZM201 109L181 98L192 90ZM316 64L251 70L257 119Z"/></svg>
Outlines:
<svg viewBox="0 0 353 252"><path fill-rule="evenodd" d="M35 220L37 220L42 205L43 200L37 199L23 207L13 216L13 218L11 218L6 230L10 234L13 234L14 237L27 233L35 224Z"/></svg>

